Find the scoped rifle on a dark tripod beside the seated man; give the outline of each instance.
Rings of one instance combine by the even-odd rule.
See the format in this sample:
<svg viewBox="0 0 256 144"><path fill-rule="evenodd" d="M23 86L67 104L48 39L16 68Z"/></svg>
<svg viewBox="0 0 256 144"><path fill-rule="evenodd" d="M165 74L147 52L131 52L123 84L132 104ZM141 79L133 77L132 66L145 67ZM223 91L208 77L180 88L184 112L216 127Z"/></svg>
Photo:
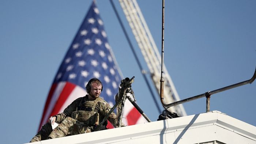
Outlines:
<svg viewBox="0 0 256 144"><path fill-rule="evenodd" d="M135 101L133 101L133 99L131 98L131 96L127 95L128 93L133 95L133 98L135 99L131 84L134 82L134 76L129 79L128 77L126 77L125 79L121 80L121 84L118 91L118 94L116 95L116 104L112 107L112 109L110 109L109 113L105 115L105 117L103 118L102 122L99 123L98 126L96 126L96 128L94 129L94 131L98 131L99 128L102 126L102 124L107 120L107 118L109 117L109 115L114 111L114 109L118 106L117 109L117 120L118 120L118 124L117 126L120 128L121 127L121 123L122 123L122 116L123 116L123 111L124 111L124 103L125 100L128 99L132 105L139 111L139 113L148 121L151 122L150 119L147 117L146 114L144 114L144 112L142 111L142 109L140 109L140 107L135 103Z"/></svg>

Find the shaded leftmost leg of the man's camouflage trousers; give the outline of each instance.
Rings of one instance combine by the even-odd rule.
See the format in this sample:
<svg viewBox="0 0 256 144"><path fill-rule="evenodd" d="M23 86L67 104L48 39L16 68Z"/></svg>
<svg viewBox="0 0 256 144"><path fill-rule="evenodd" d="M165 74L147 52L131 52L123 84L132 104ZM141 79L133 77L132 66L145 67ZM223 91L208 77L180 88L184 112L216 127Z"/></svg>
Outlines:
<svg viewBox="0 0 256 144"><path fill-rule="evenodd" d="M50 123L46 123L42 126L41 130L32 138L30 142L46 140L49 134L52 132L52 126Z"/></svg>

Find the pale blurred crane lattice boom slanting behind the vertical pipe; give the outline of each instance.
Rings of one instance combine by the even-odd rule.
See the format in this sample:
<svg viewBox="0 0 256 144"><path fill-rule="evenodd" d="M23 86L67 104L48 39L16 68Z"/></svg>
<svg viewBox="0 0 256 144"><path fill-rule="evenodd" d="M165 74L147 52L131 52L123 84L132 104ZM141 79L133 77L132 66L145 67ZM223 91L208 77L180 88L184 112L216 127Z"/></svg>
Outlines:
<svg viewBox="0 0 256 144"><path fill-rule="evenodd" d="M151 73L151 79L154 82L155 88L160 92L160 77L161 77L161 57L155 45L154 39L147 27L146 21L140 11L136 0L119 0L128 23L132 29L132 33L139 45L142 55L147 63ZM165 65L163 66L165 82L164 82L164 98L166 103L172 103L180 100L178 93L174 87L172 79L167 72ZM185 116L186 111L182 105L170 107L169 111L176 112L181 116Z"/></svg>

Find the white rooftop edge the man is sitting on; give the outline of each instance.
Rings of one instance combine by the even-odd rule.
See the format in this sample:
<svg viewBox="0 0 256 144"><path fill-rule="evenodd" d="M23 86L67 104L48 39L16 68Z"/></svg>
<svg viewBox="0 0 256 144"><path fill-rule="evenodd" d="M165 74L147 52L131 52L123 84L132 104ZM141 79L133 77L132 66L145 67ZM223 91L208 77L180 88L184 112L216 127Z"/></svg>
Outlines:
<svg viewBox="0 0 256 144"><path fill-rule="evenodd" d="M44 140L34 144L52 143L252 144L256 143L256 127L220 111L210 111L168 120Z"/></svg>

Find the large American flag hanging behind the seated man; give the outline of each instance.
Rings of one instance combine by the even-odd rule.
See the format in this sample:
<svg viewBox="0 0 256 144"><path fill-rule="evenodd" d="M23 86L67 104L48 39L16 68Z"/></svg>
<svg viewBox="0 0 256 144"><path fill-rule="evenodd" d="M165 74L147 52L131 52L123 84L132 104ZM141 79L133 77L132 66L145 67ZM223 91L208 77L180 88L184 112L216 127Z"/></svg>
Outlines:
<svg viewBox="0 0 256 144"><path fill-rule="evenodd" d="M38 130L50 116L62 113L75 99L85 96L86 84L94 77L103 85L100 96L113 107L123 76L108 43L99 10L93 2L53 80ZM127 101L122 122L126 125L146 122Z"/></svg>

